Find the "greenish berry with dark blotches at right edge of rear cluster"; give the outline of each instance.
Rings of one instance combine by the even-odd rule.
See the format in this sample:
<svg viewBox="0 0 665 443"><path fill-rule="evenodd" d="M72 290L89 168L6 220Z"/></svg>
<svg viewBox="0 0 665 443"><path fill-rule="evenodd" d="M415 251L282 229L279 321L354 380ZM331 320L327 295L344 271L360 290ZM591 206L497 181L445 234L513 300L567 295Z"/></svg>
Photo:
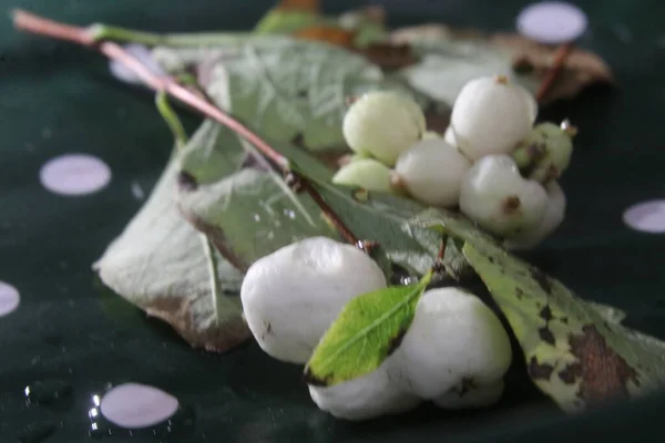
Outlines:
<svg viewBox="0 0 665 443"><path fill-rule="evenodd" d="M528 178L546 183L569 167L576 130L566 124L541 123L516 145L512 156Z"/></svg>

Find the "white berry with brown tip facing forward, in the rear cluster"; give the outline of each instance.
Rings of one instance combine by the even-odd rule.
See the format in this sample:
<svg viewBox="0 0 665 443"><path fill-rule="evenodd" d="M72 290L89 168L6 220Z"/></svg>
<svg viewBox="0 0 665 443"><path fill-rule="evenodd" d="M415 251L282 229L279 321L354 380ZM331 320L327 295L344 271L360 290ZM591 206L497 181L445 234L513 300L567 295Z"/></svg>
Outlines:
<svg viewBox="0 0 665 443"><path fill-rule="evenodd" d="M543 218L546 204L545 189L523 178L508 155L482 157L462 179L460 209L498 236L533 228Z"/></svg>

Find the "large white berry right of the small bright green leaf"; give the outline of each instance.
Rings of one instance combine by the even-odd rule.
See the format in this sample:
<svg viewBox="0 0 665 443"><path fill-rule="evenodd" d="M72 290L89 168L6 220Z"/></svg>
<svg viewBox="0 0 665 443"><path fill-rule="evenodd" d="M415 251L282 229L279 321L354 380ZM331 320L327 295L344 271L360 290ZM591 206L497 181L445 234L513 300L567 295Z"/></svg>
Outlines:
<svg viewBox="0 0 665 443"><path fill-rule="evenodd" d="M389 378L422 399L462 382L498 382L510 367L508 332L492 310L460 288L426 291L388 364Z"/></svg>

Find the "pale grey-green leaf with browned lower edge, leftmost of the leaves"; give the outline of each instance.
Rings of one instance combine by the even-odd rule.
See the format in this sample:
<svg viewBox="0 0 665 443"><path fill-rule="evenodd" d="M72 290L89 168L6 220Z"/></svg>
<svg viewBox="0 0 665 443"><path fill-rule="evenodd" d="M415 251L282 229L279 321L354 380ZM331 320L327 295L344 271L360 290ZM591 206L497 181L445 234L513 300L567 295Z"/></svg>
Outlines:
<svg viewBox="0 0 665 443"><path fill-rule="evenodd" d="M93 265L103 284L170 323L190 344L224 352L250 337L237 297L243 275L173 205L173 157L150 198Z"/></svg>

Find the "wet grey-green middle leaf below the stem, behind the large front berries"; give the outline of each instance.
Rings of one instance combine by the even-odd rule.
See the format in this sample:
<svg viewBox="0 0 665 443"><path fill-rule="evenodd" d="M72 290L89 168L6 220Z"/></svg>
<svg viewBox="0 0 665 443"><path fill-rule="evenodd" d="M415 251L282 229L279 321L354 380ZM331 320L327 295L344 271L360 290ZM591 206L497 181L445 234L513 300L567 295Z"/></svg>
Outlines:
<svg viewBox="0 0 665 443"><path fill-rule="evenodd" d="M180 175L187 179L175 187L175 203L237 269L245 271L256 259L307 237L337 238L318 206L291 190L250 144L213 126L202 136L212 138L193 138L183 154ZM291 151L309 164L309 158L299 157L304 152ZM224 156L235 158L233 169L216 166ZM316 161L309 169L323 178L330 175Z"/></svg>

